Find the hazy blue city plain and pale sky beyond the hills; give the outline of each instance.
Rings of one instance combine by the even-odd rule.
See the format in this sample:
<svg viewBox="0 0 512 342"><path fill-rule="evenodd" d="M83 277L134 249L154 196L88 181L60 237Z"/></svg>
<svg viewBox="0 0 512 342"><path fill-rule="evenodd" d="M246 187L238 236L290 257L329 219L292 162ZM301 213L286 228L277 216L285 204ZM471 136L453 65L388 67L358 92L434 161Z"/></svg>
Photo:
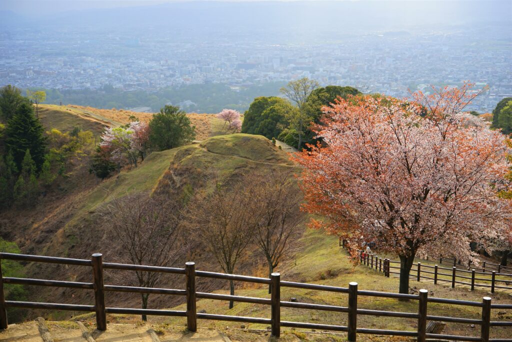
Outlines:
<svg viewBox="0 0 512 342"><path fill-rule="evenodd" d="M0 86L44 88L48 103L245 110L248 89L302 77L397 97L471 80L489 87L468 108L481 113L512 96L509 1L2 4Z"/></svg>

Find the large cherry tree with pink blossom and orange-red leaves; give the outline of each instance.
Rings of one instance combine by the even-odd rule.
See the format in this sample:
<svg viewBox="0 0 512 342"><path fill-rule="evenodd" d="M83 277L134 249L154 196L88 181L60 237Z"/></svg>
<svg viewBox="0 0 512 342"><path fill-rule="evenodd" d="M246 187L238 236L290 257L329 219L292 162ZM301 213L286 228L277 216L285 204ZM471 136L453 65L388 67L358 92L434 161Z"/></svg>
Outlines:
<svg viewBox="0 0 512 342"><path fill-rule="evenodd" d="M473 258L470 242L503 236L510 203L496 195L508 148L498 131L462 109L471 84L412 99L338 98L324 107L325 144L296 157L313 227L374 240L400 258L400 293L409 291L414 257Z"/></svg>

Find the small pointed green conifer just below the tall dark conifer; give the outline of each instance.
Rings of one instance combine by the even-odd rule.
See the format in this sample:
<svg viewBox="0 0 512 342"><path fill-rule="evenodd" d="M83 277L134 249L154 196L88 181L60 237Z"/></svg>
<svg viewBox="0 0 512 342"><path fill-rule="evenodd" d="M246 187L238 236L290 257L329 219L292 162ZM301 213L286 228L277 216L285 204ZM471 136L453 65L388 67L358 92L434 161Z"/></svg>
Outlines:
<svg viewBox="0 0 512 342"><path fill-rule="evenodd" d="M25 151L22 162L22 172L14 185L14 201L22 206L31 206L35 203L38 195L36 166L30 151Z"/></svg>

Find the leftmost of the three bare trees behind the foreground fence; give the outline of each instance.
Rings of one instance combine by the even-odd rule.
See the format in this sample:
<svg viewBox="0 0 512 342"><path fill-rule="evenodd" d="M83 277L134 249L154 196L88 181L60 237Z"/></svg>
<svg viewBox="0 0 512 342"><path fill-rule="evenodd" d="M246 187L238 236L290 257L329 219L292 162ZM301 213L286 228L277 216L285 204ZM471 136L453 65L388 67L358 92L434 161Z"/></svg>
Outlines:
<svg viewBox="0 0 512 342"><path fill-rule="evenodd" d="M183 201L166 200L136 193L114 200L101 213L114 231L117 246L124 254L121 261L135 265L174 266L185 246L180 241ZM133 274L133 273L132 273ZM163 273L135 271L139 287L155 287ZM142 293L142 309L147 308L148 293ZM146 320L142 315L142 320Z"/></svg>

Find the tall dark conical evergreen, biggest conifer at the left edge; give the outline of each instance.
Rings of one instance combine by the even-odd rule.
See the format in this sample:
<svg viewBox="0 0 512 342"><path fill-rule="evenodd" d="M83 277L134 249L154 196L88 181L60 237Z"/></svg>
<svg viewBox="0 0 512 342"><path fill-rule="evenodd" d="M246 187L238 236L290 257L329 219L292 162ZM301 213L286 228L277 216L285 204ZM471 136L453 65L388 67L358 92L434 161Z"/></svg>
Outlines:
<svg viewBox="0 0 512 342"><path fill-rule="evenodd" d="M34 160L36 170L40 170L45 162L46 139L44 129L39 119L34 115L31 105L22 104L14 116L9 120L6 129L6 146L14 157L18 169L22 168L22 161L26 150Z"/></svg>

